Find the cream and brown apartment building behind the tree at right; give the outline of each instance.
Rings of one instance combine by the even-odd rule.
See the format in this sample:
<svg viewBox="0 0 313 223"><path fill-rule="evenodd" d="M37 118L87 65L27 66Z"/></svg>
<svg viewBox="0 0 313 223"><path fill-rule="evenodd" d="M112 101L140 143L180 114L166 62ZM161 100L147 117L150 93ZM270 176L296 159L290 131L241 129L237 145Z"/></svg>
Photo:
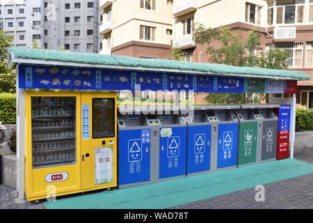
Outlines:
<svg viewBox="0 0 313 223"><path fill-rule="evenodd" d="M285 49L290 70L305 72L312 80L298 82L297 104L313 108L313 0L174 0L172 45L184 49L186 61L207 63L207 46L195 45L192 26L229 26L246 36L257 27L261 48ZM287 96L287 95L282 95Z"/></svg>

